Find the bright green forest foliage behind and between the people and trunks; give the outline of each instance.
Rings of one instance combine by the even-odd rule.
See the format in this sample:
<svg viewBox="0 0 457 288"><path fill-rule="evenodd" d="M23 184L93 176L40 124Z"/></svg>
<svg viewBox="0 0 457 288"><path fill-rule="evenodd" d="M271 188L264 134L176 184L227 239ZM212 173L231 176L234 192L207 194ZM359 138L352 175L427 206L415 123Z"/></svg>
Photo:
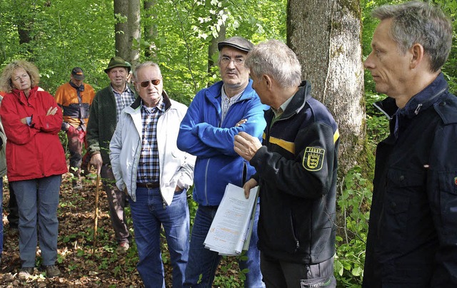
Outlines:
<svg viewBox="0 0 457 288"><path fill-rule="evenodd" d="M140 62L159 63L165 90L182 103L189 104L197 91L219 80L217 68L208 71L208 48L222 26L227 37L244 36L253 43L270 38L286 40L286 0L152 2L149 10L141 9L141 26L145 30L153 26L156 34L154 38L143 37L134 45L141 51ZM363 60L371 52L371 36L378 23L370 11L382 4L399 2L403 1L361 0ZM457 1L432 2L456 18ZM112 0L0 0L0 69L18 58L33 61L41 72L39 85L54 93L69 81L71 68L80 66L86 73L85 82L99 91L109 84L104 68L115 55L114 25L125 20L114 15ZM457 93L456 45L454 41L443 68L453 93ZM387 121L371 106L385 96L376 93L369 73L365 74L365 96L368 143L373 150L386 136ZM346 175L342 187L337 202L345 221L344 227L338 229L335 270L342 287L354 287L361 283L363 274L371 179L355 168ZM189 204L192 212L196 205Z"/></svg>

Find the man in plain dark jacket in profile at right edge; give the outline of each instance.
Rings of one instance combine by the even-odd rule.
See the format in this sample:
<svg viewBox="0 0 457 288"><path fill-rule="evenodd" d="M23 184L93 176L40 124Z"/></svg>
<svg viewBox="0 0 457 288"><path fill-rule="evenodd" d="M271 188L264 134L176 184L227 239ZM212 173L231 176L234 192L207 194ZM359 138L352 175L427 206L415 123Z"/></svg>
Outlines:
<svg viewBox="0 0 457 288"><path fill-rule="evenodd" d="M441 67L452 26L425 2L381 6L365 67L388 98L363 287L457 287L457 98Z"/></svg>

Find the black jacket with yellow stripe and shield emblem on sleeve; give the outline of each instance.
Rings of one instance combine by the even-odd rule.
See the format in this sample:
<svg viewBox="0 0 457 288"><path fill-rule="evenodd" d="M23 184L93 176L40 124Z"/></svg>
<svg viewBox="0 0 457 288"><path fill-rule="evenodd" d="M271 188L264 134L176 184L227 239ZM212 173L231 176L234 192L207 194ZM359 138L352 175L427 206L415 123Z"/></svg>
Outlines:
<svg viewBox="0 0 457 288"><path fill-rule="evenodd" d="M303 82L271 124L250 163L260 187L259 249L286 262L316 264L335 253L338 128Z"/></svg>

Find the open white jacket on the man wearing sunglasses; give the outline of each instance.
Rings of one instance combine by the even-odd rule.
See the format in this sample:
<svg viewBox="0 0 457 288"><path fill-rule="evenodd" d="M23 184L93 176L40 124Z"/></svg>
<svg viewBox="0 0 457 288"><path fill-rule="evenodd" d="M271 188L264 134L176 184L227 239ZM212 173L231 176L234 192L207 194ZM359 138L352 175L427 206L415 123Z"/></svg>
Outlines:
<svg viewBox="0 0 457 288"><path fill-rule="evenodd" d="M176 185L188 189L194 180L195 157L176 147L179 125L187 107L162 93L166 110L157 122L159 146L160 192L166 205L173 200ZM116 186L123 191L127 187L132 200L136 201L136 172L141 154L141 98L122 110L113 138L109 145L111 167Z"/></svg>

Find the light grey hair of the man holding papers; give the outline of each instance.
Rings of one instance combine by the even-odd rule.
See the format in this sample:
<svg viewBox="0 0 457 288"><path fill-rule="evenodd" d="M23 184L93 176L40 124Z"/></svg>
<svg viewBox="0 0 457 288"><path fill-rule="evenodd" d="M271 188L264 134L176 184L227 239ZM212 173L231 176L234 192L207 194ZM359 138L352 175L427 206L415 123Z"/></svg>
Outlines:
<svg viewBox="0 0 457 288"><path fill-rule="evenodd" d="M282 88L300 85L301 65L295 53L278 40L269 40L254 46L244 63L256 77L266 74Z"/></svg>

